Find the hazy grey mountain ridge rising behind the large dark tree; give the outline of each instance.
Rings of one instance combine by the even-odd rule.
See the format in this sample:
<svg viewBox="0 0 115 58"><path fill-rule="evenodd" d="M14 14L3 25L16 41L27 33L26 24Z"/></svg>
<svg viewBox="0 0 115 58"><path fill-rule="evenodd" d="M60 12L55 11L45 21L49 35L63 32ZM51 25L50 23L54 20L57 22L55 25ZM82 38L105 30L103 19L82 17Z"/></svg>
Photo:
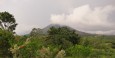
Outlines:
<svg viewBox="0 0 115 58"><path fill-rule="evenodd" d="M74 29L74 28L71 28L71 27L69 27L69 26L59 25L59 24L50 24L50 25L46 26L46 27L43 28L43 29L33 28L30 34L38 34L38 35L39 35L39 34L43 34L43 35L47 35L47 34L48 34L47 31L48 31L51 27L55 27L55 28L67 27L67 28L69 28L69 29L71 29L71 30L75 30L75 32L76 32L77 34L79 34L79 35L86 35L86 36L87 36L87 35L94 35L94 34L82 32L82 31L78 31L78 30L76 30L76 29Z"/></svg>

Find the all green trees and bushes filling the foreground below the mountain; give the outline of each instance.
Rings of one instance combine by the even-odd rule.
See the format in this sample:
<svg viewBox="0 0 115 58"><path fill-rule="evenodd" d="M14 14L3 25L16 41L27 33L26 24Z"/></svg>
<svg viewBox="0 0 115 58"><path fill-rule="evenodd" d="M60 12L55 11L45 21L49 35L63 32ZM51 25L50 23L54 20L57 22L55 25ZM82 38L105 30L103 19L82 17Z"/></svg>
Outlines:
<svg viewBox="0 0 115 58"><path fill-rule="evenodd" d="M115 36L80 36L68 27L14 35L17 24L8 12L0 13L0 24L0 58L115 58Z"/></svg>

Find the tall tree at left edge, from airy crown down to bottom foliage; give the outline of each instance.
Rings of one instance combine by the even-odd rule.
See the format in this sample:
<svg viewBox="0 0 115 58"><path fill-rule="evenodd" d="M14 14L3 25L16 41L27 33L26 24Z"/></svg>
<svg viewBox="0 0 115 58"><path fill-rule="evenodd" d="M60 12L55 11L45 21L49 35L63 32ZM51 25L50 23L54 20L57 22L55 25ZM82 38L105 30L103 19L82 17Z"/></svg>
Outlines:
<svg viewBox="0 0 115 58"><path fill-rule="evenodd" d="M12 14L0 12L0 58L12 57L9 48L14 43L13 31L17 23Z"/></svg>

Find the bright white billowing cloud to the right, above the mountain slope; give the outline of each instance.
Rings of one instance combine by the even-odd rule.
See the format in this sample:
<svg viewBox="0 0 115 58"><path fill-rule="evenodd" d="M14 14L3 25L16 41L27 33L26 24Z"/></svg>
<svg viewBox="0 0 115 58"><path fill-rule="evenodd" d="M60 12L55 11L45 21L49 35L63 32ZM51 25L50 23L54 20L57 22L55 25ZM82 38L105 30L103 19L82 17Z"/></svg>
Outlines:
<svg viewBox="0 0 115 58"><path fill-rule="evenodd" d="M115 11L115 7L112 5L103 7L83 5L74 8L69 14L52 14L51 22L54 24L69 25L81 31L90 31L90 33L104 33L104 31L109 33L108 31L115 30L112 27L115 26L115 23L109 21L109 14L113 11Z"/></svg>

